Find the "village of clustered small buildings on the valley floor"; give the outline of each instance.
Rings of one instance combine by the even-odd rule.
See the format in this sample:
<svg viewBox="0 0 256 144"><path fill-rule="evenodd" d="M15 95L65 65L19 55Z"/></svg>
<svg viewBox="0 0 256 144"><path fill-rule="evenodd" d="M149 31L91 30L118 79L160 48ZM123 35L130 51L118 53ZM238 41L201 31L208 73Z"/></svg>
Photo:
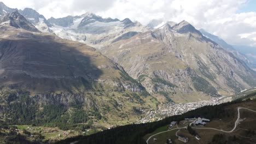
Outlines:
<svg viewBox="0 0 256 144"><path fill-rule="evenodd" d="M227 103L228 101L231 101L231 97L211 98L211 100L204 100L187 104L168 103L163 105L162 107L159 107L159 109L157 110L152 109L150 111L142 111L146 114L146 116L140 118L137 123L160 121L165 117L181 115L185 112L195 110L199 107L207 105L219 105L222 103Z"/></svg>

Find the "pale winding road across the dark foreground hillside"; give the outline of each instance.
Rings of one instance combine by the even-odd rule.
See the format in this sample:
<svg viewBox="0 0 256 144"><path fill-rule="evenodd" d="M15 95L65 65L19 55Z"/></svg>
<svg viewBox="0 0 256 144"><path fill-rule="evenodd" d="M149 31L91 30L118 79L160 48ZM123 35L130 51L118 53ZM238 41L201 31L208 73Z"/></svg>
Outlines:
<svg viewBox="0 0 256 144"><path fill-rule="evenodd" d="M237 119L236 119L236 122L235 122L235 126L234 126L234 128L233 128L232 130L230 130L230 131L225 131L225 130L222 130L222 129L215 129L215 128L195 128L195 127L193 127L193 128L194 128L194 129L213 129L213 130L222 131L222 132L224 132L224 133L232 133L232 132L236 129L237 124L241 121L241 120L240 120L240 110L241 110L241 109L245 109L245 110L248 110L248 111L256 112L256 111L254 111L254 110L247 109L246 107L237 107ZM194 121L194 122L195 122L195 121ZM194 123L194 122L192 122L192 123ZM192 123L190 123L189 125L191 125ZM177 125L177 128L175 128L175 129L170 129L170 130L166 130L166 131L161 131L160 133L156 133L156 134L150 136L146 142L147 142L147 144L148 144L148 141L149 141L153 136L156 136L156 135L159 135L159 134L162 134L162 133L166 133L166 132L172 131L172 130L177 130L177 129L178 129L178 131L179 131L180 129L185 129L185 128L187 128L187 127L178 128L178 125ZM178 131L176 132L176 136L177 136Z"/></svg>

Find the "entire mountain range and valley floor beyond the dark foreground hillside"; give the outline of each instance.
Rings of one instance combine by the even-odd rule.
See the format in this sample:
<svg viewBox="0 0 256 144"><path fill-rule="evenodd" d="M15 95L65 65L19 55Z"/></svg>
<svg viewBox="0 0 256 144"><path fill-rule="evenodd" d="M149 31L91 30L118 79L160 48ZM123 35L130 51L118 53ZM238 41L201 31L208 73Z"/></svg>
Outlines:
<svg viewBox="0 0 256 144"><path fill-rule="evenodd" d="M46 20L0 2L0 143L53 143L139 123L168 104L211 105L254 88L254 66L185 20Z"/></svg>

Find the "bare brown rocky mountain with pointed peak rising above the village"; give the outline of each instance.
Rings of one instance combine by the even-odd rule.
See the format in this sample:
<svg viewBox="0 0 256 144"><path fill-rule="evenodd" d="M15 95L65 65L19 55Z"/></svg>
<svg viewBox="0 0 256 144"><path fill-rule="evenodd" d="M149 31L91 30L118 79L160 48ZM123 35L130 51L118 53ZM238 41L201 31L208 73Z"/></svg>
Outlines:
<svg viewBox="0 0 256 144"><path fill-rule="evenodd" d="M184 102L255 86L255 73L186 21L103 47L151 93Z"/></svg>

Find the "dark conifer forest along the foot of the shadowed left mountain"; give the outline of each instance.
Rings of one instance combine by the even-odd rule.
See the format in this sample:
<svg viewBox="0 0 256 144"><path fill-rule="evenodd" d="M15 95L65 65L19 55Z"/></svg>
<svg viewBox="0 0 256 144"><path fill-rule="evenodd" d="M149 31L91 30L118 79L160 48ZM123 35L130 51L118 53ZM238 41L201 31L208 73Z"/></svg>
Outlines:
<svg viewBox="0 0 256 144"><path fill-rule="evenodd" d="M8 103L4 111L4 122L1 125L34 125L45 127L59 127L62 130L74 129L79 127L84 129L84 125L77 123L86 123L90 117L101 119L100 112L86 112L83 106L74 107L72 112L67 112L68 107L62 104L39 105L29 96L29 93L21 93L19 97L9 95ZM91 125L85 127L92 128Z"/></svg>

